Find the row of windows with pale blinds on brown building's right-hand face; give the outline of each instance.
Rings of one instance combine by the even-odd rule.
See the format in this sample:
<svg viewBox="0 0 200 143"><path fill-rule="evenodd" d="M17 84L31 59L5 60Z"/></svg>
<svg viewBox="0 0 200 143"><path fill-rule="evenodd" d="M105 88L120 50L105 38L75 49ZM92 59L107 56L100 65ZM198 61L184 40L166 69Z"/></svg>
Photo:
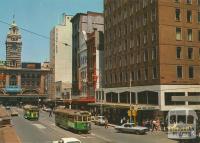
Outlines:
<svg viewBox="0 0 200 143"><path fill-rule="evenodd" d="M194 41L194 30L193 29L187 29L186 36L187 41ZM176 40L182 40L182 28L176 27ZM200 30L197 31L197 40L200 42Z"/></svg>

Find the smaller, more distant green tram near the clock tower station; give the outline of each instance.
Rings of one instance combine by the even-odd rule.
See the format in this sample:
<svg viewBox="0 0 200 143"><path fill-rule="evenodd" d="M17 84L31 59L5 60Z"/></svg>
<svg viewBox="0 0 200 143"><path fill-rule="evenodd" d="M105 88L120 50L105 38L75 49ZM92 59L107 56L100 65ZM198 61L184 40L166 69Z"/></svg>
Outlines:
<svg viewBox="0 0 200 143"><path fill-rule="evenodd" d="M24 118L28 120L38 120L39 108L37 106L32 105L24 106Z"/></svg>

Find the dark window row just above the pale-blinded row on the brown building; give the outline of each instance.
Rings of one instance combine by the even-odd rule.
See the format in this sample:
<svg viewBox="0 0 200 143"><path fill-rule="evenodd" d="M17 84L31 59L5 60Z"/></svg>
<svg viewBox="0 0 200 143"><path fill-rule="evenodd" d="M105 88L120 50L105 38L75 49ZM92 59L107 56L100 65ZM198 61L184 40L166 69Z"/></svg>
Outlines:
<svg viewBox="0 0 200 143"><path fill-rule="evenodd" d="M186 15L187 15L186 22L191 23L193 21L192 10L188 9L186 12ZM180 8L175 9L175 20L181 21L181 9ZM200 23L200 11L197 12L197 23Z"/></svg>

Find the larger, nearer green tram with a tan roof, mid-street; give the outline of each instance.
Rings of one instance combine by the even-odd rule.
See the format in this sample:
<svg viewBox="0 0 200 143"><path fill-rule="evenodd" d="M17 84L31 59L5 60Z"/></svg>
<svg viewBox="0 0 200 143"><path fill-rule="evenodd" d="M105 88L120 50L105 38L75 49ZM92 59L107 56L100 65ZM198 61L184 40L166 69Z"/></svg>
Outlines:
<svg viewBox="0 0 200 143"><path fill-rule="evenodd" d="M56 109L55 124L75 132L88 133L91 130L91 113L88 111Z"/></svg>

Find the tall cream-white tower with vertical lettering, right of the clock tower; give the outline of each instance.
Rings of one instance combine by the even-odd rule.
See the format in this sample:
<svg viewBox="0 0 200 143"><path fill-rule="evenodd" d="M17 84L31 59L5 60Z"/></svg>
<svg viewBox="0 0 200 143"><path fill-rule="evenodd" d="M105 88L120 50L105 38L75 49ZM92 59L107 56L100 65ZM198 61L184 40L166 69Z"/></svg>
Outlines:
<svg viewBox="0 0 200 143"><path fill-rule="evenodd" d="M62 15L62 21L50 33L50 67L51 77L50 98L65 98L71 94L72 86L72 16ZM57 83L58 82L58 83Z"/></svg>

